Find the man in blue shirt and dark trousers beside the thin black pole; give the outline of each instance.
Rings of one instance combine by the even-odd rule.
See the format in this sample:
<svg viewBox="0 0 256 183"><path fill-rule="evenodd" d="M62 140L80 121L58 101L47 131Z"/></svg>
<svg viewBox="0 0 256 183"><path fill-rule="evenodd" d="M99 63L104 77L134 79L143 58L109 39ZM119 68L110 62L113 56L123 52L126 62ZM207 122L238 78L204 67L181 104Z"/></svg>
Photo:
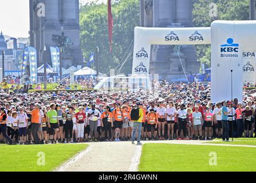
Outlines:
<svg viewBox="0 0 256 183"><path fill-rule="evenodd" d="M222 125L223 125L223 131L222 131L222 140L223 141L227 141L229 142L229 121L228 121L228 112L227 112L227 102L226 101L222 101L221 102L222 105L222 115L221 115L221 120L222 120Z"/></svg>

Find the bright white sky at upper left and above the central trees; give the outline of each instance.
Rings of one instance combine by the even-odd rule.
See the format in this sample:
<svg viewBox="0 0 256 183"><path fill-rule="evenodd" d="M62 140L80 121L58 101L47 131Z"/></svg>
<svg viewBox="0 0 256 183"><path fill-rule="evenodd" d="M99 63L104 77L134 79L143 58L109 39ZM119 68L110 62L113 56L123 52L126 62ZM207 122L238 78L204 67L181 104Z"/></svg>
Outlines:
<svg viewBox="0 0 256 183"><path fill-rule="evenodd" d="M90 1L107 0L80 0ZM29 0L0 0L0 31L10 37L29 37Z"/></svg>

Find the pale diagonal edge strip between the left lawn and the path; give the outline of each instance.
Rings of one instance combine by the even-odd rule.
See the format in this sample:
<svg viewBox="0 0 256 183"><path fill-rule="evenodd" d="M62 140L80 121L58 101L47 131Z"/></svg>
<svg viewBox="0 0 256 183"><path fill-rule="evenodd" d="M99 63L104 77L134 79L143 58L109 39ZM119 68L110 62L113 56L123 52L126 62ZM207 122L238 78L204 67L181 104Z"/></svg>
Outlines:
<svg viewBox="0 0 256 183"><path fill-rule="evenodd" d="M88 146L86 150L83 150L82 152L78 153L76 156L72 157L70 160L62 164L59 168L54 170L54 172L64 172L69 168L69 166L76 163L78 160L80 160L82 157L88 154L91 150L92 150L92 145Z"/></svg>

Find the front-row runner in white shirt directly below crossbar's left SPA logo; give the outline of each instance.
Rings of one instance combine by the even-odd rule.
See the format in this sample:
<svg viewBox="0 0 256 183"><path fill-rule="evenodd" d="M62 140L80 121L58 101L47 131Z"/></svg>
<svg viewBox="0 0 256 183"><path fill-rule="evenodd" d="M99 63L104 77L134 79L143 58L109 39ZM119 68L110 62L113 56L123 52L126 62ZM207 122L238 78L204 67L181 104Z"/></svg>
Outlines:
<svg viewBox="0 0 256 183"><path fill-rule="evenodd" d="M172 130L171 140L174 140L174 117L176 116L177 110L174 107L173 102L169 102L166 109L166 120L167 120L167 135L170 140L170 130Z"/></svg>

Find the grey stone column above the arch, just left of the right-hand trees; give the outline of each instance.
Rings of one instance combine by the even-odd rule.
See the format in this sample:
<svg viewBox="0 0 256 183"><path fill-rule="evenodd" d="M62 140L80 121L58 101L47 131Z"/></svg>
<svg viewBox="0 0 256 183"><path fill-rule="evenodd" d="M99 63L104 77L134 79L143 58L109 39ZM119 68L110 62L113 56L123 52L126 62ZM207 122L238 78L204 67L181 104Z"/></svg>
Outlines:
<svg viewBox="0 0 256 183"><path fill-rule="evenodd" d="M176 22L186 27L192 26L191 0L176 0Z"/></svg>

